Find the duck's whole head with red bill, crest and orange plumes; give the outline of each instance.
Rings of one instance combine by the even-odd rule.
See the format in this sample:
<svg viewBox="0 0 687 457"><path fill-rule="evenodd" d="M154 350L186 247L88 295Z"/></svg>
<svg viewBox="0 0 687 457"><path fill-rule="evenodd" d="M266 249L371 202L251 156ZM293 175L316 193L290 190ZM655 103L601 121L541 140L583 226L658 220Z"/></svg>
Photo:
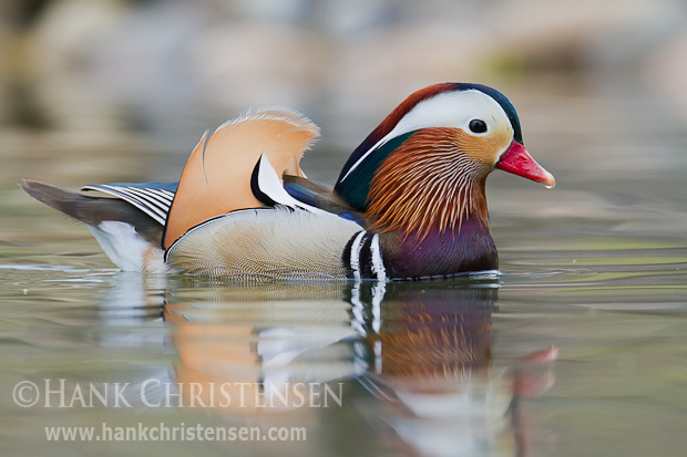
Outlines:
<svg viewBox="0 0 687 457"><path fill-rule="evenodd" d="M372 229L420 235L459 230L489 215L494 169L555 186L527 153L520 120L500 92L444 83L411 94L356 148L335 190Z"/></svg>

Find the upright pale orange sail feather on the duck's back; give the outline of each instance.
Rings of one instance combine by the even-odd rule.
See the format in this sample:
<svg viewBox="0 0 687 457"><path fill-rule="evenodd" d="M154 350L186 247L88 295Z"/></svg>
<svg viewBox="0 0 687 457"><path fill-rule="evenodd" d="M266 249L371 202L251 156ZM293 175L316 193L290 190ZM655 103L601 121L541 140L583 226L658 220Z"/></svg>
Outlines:
<svg viewBox="0 0 687 457"><path fill-rule="evenodd" d="M209 138L203 135L182 173L163 247L209 218L263 206L250 190L260 155L279 176L303 176L300 158L318 135L319 128L307 117L281 110L247 114L219 126Z"/></svg>

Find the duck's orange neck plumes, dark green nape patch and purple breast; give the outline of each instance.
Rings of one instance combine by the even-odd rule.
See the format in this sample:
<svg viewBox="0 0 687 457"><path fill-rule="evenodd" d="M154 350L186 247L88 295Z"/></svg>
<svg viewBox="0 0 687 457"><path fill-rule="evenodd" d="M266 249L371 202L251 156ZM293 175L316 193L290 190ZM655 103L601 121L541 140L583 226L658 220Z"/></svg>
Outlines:
<svg viewBox="0 0 687 457"><path fill-rule="evenodd" d="M498 268L484 194L493 166L466 153L461 138L448 127L410 132L337 183L337 193L365 212L367 229L380 233L389 277Z"/></svg>

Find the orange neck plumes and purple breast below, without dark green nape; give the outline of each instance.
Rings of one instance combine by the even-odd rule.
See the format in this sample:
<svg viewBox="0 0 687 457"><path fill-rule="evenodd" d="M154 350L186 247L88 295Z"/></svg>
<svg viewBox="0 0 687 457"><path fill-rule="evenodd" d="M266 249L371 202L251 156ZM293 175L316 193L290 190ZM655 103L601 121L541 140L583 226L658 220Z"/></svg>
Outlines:
<svg viewBox="0 0 687 457"><path fill-rule="evenodd" d="M499 267L484 193L489 169L454 148L447 149L430 160L425 147L423 162L414 159L418 154L393 154L372 179L366 216L369 230L380 232L392 278Z"/></svg>

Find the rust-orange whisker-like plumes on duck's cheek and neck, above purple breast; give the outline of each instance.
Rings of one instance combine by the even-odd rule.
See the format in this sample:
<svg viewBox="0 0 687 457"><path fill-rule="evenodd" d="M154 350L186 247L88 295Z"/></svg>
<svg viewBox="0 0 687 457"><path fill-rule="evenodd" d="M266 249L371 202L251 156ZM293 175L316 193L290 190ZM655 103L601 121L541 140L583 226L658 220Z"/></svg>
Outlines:
<svg viewBox="0 0 687 457"><path fill-rule="evenodd" d="M372 178L367 212L376 220L371 229L417 232L424 239L432 228L460 230L463 216L486 222L484 180L496 159L495 154L488 158L492 143L449 127L416 133Z"/></svg>

